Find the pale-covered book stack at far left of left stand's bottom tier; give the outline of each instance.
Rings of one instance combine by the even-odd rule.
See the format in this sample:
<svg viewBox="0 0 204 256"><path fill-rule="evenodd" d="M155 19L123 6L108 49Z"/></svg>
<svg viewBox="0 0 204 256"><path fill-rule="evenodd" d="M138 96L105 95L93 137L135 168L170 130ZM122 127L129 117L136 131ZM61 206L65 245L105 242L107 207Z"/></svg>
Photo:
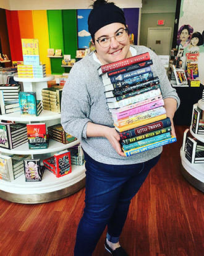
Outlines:
<svg viewBox="0 0 204 256"><path fill-rule="evenodd" d="M12 182L24 173L23 159L30 158L29 155L0 155L0 177L2 180Z"/></svg>

